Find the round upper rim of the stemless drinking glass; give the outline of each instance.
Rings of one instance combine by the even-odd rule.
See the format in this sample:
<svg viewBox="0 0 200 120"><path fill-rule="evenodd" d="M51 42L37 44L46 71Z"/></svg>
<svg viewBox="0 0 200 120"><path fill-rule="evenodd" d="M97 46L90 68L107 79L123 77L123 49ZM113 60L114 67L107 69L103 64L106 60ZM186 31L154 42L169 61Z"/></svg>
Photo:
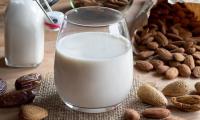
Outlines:
<svg viewBox="0 0 200 120"><path fill-rule="evenodd" d="M111 11L111 12L114 12L114 13L118 14L118 15L120 16L120 18L119 18L117 21L113 22L113 23L101 24L101 25L94 25L94 24L89 25L89 24L84 24L84 23L77 23L77 22L74 22L74 21L69 20L69 19L67 18L68 15L70 15L70 14L73 13L74 11L81 10L81 9L88 9L88 8L109 10L109 11ZM120 12L120 11L118 11L118 10L116 10L116 9L113 9L113 8L102 7L102 6L84 6L84 7L73 8L73 9L67 11L67 12L65 13L65 17L64 17L64 20L65 20L65 21L70 22L71 24L74 24L74 25L77 25L77 26L83 26L83 27L106 27L106 26L109 26L109 25L114 24L114 23L116 23L116 22L119 22L119 21L121 21L121 20L123 20L123 19L125 20L125 15L124 15L122 12Z"/></svg>

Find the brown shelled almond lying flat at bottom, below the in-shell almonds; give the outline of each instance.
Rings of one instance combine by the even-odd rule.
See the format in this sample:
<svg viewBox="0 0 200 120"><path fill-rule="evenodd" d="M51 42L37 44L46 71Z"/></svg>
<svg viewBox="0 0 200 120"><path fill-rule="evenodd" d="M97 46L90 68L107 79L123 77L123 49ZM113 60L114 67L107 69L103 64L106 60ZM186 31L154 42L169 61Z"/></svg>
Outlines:
<svg viewBox="0 0 200 120"><path fill-rule="evenodd" d="M164 119L167 118L171 112L165 108L147 108L142 112L146 118Z"/></svg>

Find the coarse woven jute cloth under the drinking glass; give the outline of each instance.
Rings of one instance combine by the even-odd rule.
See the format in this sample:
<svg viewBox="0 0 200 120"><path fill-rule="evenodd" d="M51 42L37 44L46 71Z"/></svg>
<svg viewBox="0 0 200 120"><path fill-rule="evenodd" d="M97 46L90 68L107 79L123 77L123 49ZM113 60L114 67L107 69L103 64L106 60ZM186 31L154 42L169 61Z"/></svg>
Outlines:
<svg viewBox="0 0 200 120"><path fill-rule="evenodd" d="M133 80L130 94L116 109L105 113L89 114L77 112L66 107L56 92L53 74L49 73L42 80L39 95L34 103L49 111L49 116L46 120L123 120L126 108L134 108L139 112L145 108L145 105L138 100L136 95L140 84L139 81Z"/></svg>

